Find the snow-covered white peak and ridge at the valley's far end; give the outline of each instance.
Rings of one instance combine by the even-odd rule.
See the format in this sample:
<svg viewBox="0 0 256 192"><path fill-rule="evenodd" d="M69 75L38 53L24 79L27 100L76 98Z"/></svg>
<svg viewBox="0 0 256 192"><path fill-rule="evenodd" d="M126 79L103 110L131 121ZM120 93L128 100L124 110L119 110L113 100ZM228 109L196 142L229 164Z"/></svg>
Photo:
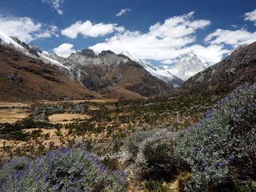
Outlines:
<svg viewBox="0 0 256 192"><path fill-rule="evenodd" d="M127 50L123 51L122 54L142 65L153 76L162 79L174 87L182 86L186 79L208 67L206 61L199 58L196 54L188 54L174 66L153 66L150 62L135 58Z"/></svg>

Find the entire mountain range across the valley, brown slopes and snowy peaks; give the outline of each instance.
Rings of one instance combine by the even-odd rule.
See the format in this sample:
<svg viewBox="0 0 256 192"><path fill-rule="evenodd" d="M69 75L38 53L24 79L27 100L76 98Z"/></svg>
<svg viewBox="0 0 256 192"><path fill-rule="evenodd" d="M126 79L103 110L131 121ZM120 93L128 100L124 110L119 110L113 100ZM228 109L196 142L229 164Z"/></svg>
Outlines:
<svg viewBox="0 0 256 192"><path fill-rule="evenodd" d="M153 66L128 51L97 55L87 49L62 58L0 31L0 100L136 99L218 90L255 82L255 55L256 42L213 66L194 53L174 66Z"/></svg>

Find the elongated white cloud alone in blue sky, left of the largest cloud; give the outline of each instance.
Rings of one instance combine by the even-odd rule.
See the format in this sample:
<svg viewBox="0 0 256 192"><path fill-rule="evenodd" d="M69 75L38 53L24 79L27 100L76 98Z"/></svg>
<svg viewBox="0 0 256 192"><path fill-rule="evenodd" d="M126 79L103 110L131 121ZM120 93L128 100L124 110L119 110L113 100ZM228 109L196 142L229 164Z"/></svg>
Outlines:
<svg viewBox="0 0 256 192"><path fill-rule="evenodd" d="M123 30L125 30L124 27L117 26L116 23L104 24L101 22L98 24L94 24L87 20L86 22L75 22L70 27L62 30L62 34L66 35L69 38L77 38L78 34L82 34L84 38L97 38L99 36L111 34L114 31L122 32Z"/></svg>

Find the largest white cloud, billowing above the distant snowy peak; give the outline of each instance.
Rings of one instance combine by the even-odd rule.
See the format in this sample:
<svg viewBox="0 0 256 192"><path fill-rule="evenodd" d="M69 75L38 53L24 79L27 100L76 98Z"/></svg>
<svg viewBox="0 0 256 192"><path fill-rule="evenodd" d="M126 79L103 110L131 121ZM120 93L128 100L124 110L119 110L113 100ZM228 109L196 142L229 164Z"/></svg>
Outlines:
<svg viewBox="0 0 256 192"><path fill-rule="evenodd" d="M167 18L162 24L158 22L150 26L146 34L130 30L122 34L114 34L112 38L106 38L105 42L90 46L90 49L96 53L102 50L113 50L115 53L128 50L137 58L170 63L193 51L189 45L195 42L195 33L210 25L209 20L194 20L193 14L194 12L190 12Z"/></svg>

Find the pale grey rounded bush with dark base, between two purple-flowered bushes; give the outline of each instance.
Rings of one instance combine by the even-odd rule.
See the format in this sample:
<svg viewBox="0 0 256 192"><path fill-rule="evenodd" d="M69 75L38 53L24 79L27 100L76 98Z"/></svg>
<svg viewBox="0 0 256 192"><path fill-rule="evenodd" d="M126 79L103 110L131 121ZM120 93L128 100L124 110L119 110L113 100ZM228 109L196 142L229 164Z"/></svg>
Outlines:
<svg viewBox="0 0 256 192"><path fill-rule="evenodd" d="M168 180L176 172L173 155L174 134L169 130L158 130L146 138L138 149L135 162L138 178Z"/></svg>

